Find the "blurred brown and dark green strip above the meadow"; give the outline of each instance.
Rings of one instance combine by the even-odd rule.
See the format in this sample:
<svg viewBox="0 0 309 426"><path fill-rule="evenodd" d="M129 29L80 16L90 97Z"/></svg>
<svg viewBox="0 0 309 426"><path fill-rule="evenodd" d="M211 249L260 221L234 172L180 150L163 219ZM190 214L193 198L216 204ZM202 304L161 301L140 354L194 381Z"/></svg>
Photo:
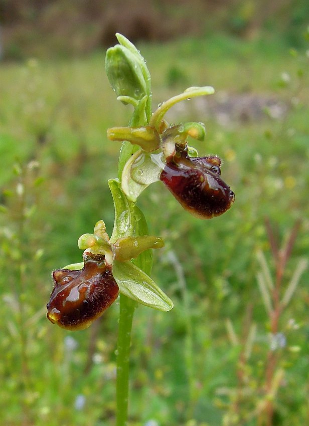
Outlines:
<svg viewBox="0 0 309 426"><path fill-rule="evenodd" d="M278 33L299 47L308 17L306 0L0 0L0 56L86 54L113 45L116 32L133 42L214 32L252 40Z"/></svg>

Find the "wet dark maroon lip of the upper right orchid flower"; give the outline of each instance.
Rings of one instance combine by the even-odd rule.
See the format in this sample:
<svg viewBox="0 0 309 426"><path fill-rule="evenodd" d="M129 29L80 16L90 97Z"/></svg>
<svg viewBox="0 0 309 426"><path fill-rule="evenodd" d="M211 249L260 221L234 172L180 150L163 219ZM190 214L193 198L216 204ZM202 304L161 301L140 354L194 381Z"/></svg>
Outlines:
<svg viewBox="0 0 309 426"><path fill-rule="evenodd" d="M186 149L169 159L160 180L182 206L200 219L222 215L235 200L234 192L221 179L217 156L190 158Z"/></svg>

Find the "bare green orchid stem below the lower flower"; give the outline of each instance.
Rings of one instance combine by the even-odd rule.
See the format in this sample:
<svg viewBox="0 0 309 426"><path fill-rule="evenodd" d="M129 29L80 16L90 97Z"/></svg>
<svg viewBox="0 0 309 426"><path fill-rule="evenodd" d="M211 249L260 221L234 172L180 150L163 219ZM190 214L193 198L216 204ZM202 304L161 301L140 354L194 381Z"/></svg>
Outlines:
<svg viewBox="0 0 309 426"><path fill-rule="evenodd" d="M127 425L130 344L135 307L136 302L120 294L117 340L116 426Z"/></svg>

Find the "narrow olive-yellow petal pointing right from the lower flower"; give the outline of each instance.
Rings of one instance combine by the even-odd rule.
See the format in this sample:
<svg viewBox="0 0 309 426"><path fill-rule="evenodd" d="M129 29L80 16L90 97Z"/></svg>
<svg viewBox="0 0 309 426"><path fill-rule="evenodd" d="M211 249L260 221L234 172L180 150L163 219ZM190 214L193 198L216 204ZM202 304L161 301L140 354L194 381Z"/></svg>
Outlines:
<svg viewBox="0 0 309 426"><path fill-rule="evenodd" d="M139 256L148 249L161 249L164 241L161 237L144 235L139 237L119 238L113 244L114 259L120 262L128 261Z"/></svg>

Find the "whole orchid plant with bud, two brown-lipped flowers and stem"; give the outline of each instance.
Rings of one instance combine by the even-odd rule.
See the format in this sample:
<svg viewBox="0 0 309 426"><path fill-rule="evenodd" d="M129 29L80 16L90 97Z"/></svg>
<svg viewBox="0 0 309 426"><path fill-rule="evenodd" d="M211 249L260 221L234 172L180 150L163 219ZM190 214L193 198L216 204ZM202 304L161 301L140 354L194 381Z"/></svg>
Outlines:
<svg viewBox="0 0 309 426"><path fill-rule="evenodd" d="M151 113L150 74L135 46L116 34L119 44L107 50L105 70L123 104L133 106L126 127L112 127L107 136L122 141L118 177L108 181L115 208L111 237L102 220L93 234L84 234L78 247L83 262L52 273L54 288L47 304L52 323L69 330L88 327L119 297L117 340L116 426L128 418L129 348L137 303L161 311L173 302L150 278L152 250L163 239L148 235L142 211L136 205L141 192L161 180L180 204L200 219L223 214L235 195L220 177L221 160L214 155L199 157L187 139L203 140L205 127L190 122L169 125L166 112L176 103L214 93L212 87L190 87L160 104Z"/></svg>

